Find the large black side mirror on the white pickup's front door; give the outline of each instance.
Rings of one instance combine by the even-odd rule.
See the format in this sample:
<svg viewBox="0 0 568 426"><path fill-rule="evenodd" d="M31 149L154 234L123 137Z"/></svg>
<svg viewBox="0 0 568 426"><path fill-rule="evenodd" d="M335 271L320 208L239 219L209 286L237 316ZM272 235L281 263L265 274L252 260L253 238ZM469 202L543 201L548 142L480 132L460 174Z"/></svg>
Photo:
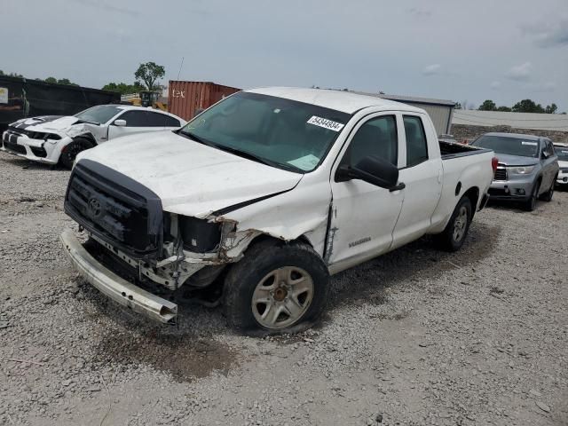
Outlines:
<svg viewBox="0 0 568 426"><path fill-rule="evenodd" d="M398 191L405 187L405 184L397 185L397 166L375 155L363 158L355 167L342 165L337 169L335 180L345 182L351 179L361 179L368 184L390 191Z"/></svg>

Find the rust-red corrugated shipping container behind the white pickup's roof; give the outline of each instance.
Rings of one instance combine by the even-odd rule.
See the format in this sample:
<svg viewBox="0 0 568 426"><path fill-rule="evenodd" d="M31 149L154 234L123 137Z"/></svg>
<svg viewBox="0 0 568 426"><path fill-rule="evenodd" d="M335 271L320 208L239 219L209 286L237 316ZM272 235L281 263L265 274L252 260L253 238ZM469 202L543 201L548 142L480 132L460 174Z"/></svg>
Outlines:
<svg viewBox="0 0 568 426"><path fill-rule="evenodd" d="M217 101L241 89L210 82L181 82L170 80L168 112L184 120L190 120L201 109L209 108Z"/></svg>

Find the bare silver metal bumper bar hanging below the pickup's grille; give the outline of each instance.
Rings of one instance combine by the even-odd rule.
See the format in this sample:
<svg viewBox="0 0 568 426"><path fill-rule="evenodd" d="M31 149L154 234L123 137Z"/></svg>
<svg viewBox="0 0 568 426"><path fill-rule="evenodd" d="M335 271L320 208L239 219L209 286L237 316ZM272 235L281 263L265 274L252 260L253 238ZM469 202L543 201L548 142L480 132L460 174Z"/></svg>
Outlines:
<svg viewBox="0 0 568 426"><path fill-rule="evenodd" d="M61 233L60 239L77 271L101 293L150 319L167 324L176 322L177 304L155 296L106 269L83 248L70 229Z"/></svg>

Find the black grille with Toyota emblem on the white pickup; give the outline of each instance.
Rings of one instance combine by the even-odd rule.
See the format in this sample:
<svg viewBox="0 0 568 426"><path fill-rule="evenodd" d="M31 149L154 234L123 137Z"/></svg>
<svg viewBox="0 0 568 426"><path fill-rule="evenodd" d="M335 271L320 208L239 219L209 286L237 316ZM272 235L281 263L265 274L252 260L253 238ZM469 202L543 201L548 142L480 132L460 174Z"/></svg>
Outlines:
<svg viewBox="0 0 568 426"><path fill-rule="evenodd" d="M98 162L78 162L65 211L79 225L136 259L155 258L162 245L162 202L146 186Z"/></svg>

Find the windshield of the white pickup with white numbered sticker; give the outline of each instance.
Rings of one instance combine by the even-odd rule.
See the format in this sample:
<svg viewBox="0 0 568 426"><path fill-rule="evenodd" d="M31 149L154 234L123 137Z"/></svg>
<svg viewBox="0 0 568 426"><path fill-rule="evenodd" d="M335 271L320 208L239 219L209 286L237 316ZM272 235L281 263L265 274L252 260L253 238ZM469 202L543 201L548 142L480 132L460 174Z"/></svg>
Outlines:
<svg viewBox="0 0 568 426"><path fill-rule="evenodd" d="M349 118L333 109L241 91L195 117L179 133L304 173L318 167Z"/></svg>

